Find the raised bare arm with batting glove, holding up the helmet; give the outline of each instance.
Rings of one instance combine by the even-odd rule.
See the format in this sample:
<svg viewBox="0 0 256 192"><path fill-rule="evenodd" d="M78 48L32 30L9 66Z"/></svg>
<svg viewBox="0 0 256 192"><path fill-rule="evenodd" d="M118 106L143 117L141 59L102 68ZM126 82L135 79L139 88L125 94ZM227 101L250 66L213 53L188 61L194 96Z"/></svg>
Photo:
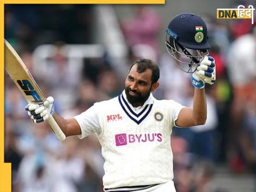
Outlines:
<svg viewBox="0 0 256 192"><path fill-rule="evenodd" d="M204 84L215 83L215 62L212 57L205 57L191 77L191 83L195 87L193 109L182 108L175 124L180 127L203 125L207 118L207 106L204 92Z"/></svg>

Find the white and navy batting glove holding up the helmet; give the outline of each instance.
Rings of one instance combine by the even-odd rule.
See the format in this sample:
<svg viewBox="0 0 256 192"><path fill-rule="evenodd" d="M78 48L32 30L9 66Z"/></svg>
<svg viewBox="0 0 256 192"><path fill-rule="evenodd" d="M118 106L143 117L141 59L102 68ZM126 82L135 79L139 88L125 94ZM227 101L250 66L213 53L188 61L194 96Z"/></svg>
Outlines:
<svg viewBox="0 0 256 192"><path fill-rule="evenodd" d="M215 61L211 56L205 56L196 71L191 76L191 83L196 89L204 88L204 84L208 83L210 85L215 83Z"/></svg>

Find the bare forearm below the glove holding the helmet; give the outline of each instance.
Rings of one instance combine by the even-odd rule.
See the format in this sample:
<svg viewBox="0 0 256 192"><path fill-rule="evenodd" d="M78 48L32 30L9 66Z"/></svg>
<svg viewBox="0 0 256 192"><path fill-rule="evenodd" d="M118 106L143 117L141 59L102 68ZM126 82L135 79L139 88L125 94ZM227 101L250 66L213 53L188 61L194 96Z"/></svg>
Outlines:
<svg viewBox="0 0 256 192"><path fill-rule="evenodd" d="M193 120L195 125L205 124L207 106L204 89L195 89L193 102Z"/></svg>

